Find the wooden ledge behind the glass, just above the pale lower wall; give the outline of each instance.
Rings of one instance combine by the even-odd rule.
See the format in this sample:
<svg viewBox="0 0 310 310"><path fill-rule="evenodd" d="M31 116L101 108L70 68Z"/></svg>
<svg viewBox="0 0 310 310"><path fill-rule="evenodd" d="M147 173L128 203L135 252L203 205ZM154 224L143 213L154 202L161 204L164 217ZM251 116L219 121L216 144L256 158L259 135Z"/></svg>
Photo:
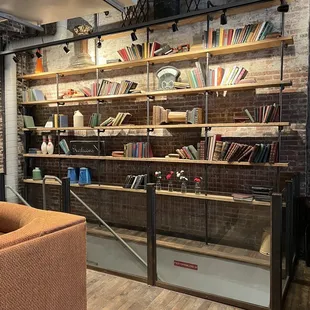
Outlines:
<svg viewBox="0 0 310 310"><path fill-rule="evenodd" d="M88 224L87 227L88 234L103 238L114 238L112 234L102 226L99 227L95 224ZM147 243L146 232L115 227L113 227L113 230L117 234L119 234L119 236L122 237L125 241L133 241L140 244ZM249 263L266 268L269 268L270 264L270 258L268 256L262 255L257 251L251 251L248 249L225 246L221 244L206 245L205 242L201 241L176 238L159 234L156 235L156 242L157 245L160 247L230 259L233 261L240 261L243 263Z"/></svg>

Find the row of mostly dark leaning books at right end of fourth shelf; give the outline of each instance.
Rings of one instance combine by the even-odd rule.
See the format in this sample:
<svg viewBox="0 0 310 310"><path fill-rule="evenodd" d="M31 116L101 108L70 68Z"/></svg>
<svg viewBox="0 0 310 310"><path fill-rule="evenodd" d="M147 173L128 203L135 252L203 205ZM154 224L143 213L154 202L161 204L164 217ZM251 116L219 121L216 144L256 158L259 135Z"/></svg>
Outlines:
<svg viewBox="0 0 310 310"><path fill-rule="evenodd" d="M236 142L222 141L221 135L208 137L207 154L205 157L205 141L197 145L198 159L213 161L238 161L250 163L276 163L279 161L279 144L257 143L254 146Z"/></svg>

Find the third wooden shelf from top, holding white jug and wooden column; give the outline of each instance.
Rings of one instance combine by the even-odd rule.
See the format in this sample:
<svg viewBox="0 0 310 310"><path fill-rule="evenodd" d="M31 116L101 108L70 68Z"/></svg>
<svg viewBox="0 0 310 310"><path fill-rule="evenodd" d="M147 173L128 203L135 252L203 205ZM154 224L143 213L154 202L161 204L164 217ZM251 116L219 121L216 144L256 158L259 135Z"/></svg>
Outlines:
<svg viewBox="0 0 310 310"><path fill-rule="evenodd" d="M289 122L274 123L217 123L217 124L174 124L174 125L122 125L122 126L105 126L105 127L36 127L23 128L23 131L74 131L74 130L122 130L122 129L190 129L190 128L206 128L206 127L285 127L290 126Z"/></svg>

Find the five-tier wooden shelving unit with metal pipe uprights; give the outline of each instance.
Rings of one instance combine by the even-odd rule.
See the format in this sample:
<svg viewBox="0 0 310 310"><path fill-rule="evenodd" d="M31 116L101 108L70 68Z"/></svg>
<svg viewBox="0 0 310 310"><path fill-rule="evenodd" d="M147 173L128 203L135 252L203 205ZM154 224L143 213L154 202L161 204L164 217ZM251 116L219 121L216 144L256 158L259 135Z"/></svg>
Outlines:
<svg viewBox="0 0 310 310"><path fill-rule="evenodd" d="M204 180L205 180L205 188L203 190L204 193L208 193L207 187L207 180L208 180L208 167L211 165L218 165L220 166L244 166L244 167L259 167L259 168L276 168L276 175L277 179L279 180L279 169L288 167L288 163L249 163L249 162L227 162L227 161L212 161L212 160L185 160L185 159L172 159L172 158L164 158L164 157L152 157L152 158L125 158L125 157L112 157L112 156L100 156L100 142L102 137L100 136L100 132L109 131L109 130L135 130L141 129L146 130L147 136L146 141L150 143L150 133L154 129L168 129L168 130L189 130L189 129L205 129L207 133L211 128L222 128L222 127L234 127L234 128L249 128L249 127L261 127L261 128L268 128L268 127L278 127L278 142L279 142L279 150L281 149L281 131L283 127L290 126L288 122L282 121L282 101L283 101L283 90L285 87L291 86L292 82L289 80L283 80L283 53L284 47L286 45L291 45L294 43L292 36L284 37L283 31L283 21L282 21L282 37L275 38L275 39L267 39L263 41L257 42L250 42L250 43L243 43L243 44L236 44L230 45L225 47L217 47L211 49L201 49L201 50L192 50L189 52L184 52L180 54L173 54L167 56L159 56L159 57L151 57L142 60L130 61L130 62L119 62L113 64L105 64L99 66L91 66L86 68L79 68L79 69L71 69L71 70L58 70L54 72L45 72L41 74L27 74L21 75L19 78L22 82L26 81L35 81L35 80L42 80L42 79L55 79L56 82L56 98L43 100L43 101L32 101L32 102L23 102L22 105L27 109L30 106L44 106L49 104L56 104L57 107L57 114L59 114L61 106L65 105L66 103L74 103L74 102L90 102L96 103L94 105L94 110L99 113L100 111L100 104L103 102L112 102L113 101L134 101L134 100L143 100L146 102L146 124L143 125L123 125L123 126L111 126L111 127L68 127L68 128L44 128L44 127L37 127L37 128L29 128L24 129L24 136L25 136L25 150L28 150L27 141L29 141L29 137L31 133L41 133L41 132L55 132L58 140L56 143L60 141L60 133L62 131L70 132L75 130L86 130L86 131L96 131L97 132L97 140L98 140L98 156L84 156L84 155L64 155L58 154L53 155L42 155L42 154L24 154L25 159L25 171L24 171L24 183L25 184L41 184L41 182L33 181L27 179L27 165L28 161L31 158L41 158L41 159L58 159L59 160L59 171L60 171L60 162L61 160L94 160L97 162L98 167L100 167L101 162L111 162L111 161L118 161L118 162L145 162L148 163L147 165L147 173L149 175L150 172L150 163L169 163L169 164L186 164L186 165L202 165L204 167ZM207 22L207 29L209 29L209 21ZM149 29L147 29L147 43L149 43ZM280 66L280 79L279 80L265 80L265 81L258 81L256 83L248 83L248 84L237 84L237 85L228 85L228 86L208 86L203 88L189 88L189 89L177 89L177 90L161 90L161 91L154 91L150 89L150 66L152 64L166 64L171 62L181 62L181 61L188 61L194 59L202 59L205 61L206 64L206 82L208 82L208 74L209 65L210 65L210 58L211 56L221 56L221 55L229 55L235 53L245 53L251 51L258 51L258 50L265 50L270 48L280 48L281 53L281 66ZM59 94L59 83L62 77L66 76L73 76L73 75L81 75L81 74L94 74L94 79L97 83L99 83L99 76L100 73L109 74L109 71L112 70L122 70L122 69L129 69L129 68L136 68L136 67L145 67L146 69L146 89L141 93L134 93L134 94L123 94L123 95L113 95L113 96L97 96L97 97L76 97L76 98L67 98L63 99L60 98ZM206 83L208 85L208 83ZM279 122L274 123L210 123L208 120L208 108L209 108L209 94L213 92L237 92L237 91L250 91L256 89L263 89L263 88L279 88L279 106L280 106L280 120ZM151 124L151 117L150 117L150 110L151 110L151 103L156 99L163 100L163 97L170 97L170 96L188 96L188 95L201 95L202 100L204 101L204 112L205 112L205 123L204 124L177 124L177 125L152 125ZM119 104L119 102L118 102ZM135 104L134 102L132 104ZM205 135L205 145L207 148L207 134ZM205 152L207 153L207 152ZM203 172L202 172L203 173ZM121 186L114 186L109 184L102 184L100 177L99 177L99 184L91 184L84 186L83 188L89 189L100 189L100 190L110 190L110 191L119 191L119 192L127 192L127 193L141 193L145 194L144 190L136 190L136 189L126 189ZM47 182L47 184L56 185L53 182ZM279 182L277 183L279 185ZM79 185L71 185L72 187L79 187ZM189 199L200 199L204 201L205 204L205 217L207 219L208 214L208 202L209 201L222 201L222 202L235 202L231 196L222 196L222 195L211 195L211 194L194 194L194 193L186 193L182 194L180 192L168 192L165 190L158 191L157 195L161 196L173 196L173 197L182 197L182 198L189 198ZM270 206L268 202L260 202L260 201L253 201L249 202L240 202L238 203L246 203L253 206ZM205 241L208 242L208 227L206 225L206 232L205 232Z"/></svg>

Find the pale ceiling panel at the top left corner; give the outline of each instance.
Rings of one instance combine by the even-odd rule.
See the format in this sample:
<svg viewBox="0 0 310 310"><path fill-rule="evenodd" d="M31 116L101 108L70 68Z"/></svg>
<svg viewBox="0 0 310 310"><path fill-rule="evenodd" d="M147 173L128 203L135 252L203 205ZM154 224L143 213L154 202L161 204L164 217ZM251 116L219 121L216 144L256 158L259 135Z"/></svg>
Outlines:
<svg viewBox="0 0 310 310"><path fill-rule="evenodd" d="M135 5L137 0L117 0L116 2L127 7ZM42 25L100 13L111 8L103 0L7 0L0 2L0 12Z"/></svg>

